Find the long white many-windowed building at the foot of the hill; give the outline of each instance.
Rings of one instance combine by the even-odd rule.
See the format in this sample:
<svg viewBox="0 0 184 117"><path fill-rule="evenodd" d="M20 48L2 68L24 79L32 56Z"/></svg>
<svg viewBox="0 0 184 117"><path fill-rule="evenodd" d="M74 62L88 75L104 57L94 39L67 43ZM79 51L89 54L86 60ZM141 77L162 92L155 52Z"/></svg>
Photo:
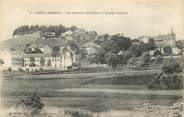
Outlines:
<svg viewBox="0 0 184 117"><path fill-rule="evenodd" d="M56 56L50 53L50 48L48 47L43 48L43 53L25 54L23 57L23 69L26 72L75 69L74 64L77 63L76 54L69 46L60 47Z"/></svg>

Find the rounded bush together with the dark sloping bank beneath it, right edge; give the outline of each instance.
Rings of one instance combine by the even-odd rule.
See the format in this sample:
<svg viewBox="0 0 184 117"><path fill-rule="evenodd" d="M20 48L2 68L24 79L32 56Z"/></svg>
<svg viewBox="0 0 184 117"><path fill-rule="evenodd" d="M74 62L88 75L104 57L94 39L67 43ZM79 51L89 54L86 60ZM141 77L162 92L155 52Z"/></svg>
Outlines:
<svg viewBox="0 0 184 117"><path fill-rule="evenodd" d="M155 89L183 89L183 75L181 66L173 58L165 61L162 72L154 78L148 88Z"/></svg>

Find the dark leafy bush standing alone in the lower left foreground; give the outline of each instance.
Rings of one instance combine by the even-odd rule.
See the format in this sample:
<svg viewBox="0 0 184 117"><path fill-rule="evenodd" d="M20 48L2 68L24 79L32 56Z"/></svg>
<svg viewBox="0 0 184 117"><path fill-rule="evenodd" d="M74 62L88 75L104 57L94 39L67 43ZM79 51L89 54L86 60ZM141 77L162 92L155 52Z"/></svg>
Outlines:
<svg viewBox="0 0 184 117"><path fill-rule="evenodd" d="M31 96L28 96L25 99L21 99L16 104L16 109L23 108L30 110L32 116L39 114L43 107L44 104L37 93L33 93Z"/></svg>

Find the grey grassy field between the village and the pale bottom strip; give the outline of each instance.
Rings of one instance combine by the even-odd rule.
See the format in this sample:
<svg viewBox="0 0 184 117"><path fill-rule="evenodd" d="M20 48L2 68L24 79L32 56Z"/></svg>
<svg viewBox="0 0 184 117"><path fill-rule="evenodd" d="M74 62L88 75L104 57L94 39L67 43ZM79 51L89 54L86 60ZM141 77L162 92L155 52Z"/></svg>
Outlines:
<svg viewBox="0 0 184 117"><path fill-rule="evenodd" d="M146 84L156 77L157 73L145 73L132 71L28 75L19 78L16 76L15 79L6 77L2 84L3 105L15 105L18 100L33 92L41 96L46 106L71 107L92 112L127 110L144 103L171 105L182 97L181 94L150 93ZM87 89L87 92L78 89ZM102 89L107 91L101 91ZM130 93L132 91L134 92Z"/></svg>

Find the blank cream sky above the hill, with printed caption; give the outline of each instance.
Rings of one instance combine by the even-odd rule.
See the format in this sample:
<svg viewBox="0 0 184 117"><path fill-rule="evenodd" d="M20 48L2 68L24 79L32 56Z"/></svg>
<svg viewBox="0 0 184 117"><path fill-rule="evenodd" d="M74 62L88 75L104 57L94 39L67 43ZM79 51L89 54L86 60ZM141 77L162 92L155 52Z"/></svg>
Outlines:
<svg viewBox="0 0 184 117"><path fill-rule="evenodd" d="M172 28L176 38L184 40L184 0L0 0L0 41L11 39L19 26L36 24L76 25L98 34L123 33L131 38L168 34Z"/></svg>

